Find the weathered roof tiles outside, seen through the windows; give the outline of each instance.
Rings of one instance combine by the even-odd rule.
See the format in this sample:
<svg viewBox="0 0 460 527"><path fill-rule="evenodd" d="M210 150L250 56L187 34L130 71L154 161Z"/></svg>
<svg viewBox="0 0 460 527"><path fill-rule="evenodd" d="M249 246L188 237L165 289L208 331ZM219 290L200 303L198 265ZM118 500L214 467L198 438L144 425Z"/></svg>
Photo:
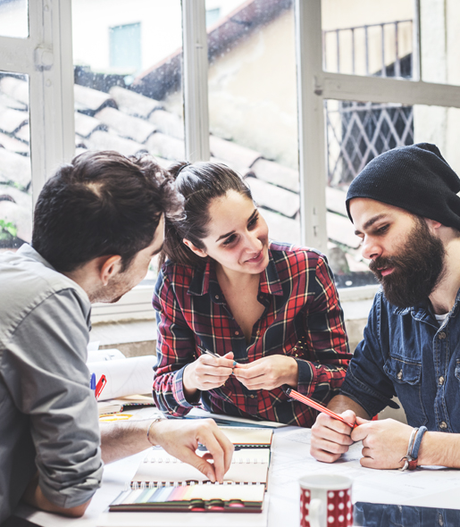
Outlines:
<svg viewBox="0 0 460 527"><path fill-rule="evenodd" d="M29 123L23 100L26 92L26 81L0 79L0 130L4 130L0 131L0 218L13 222L18 236L29 241L32 201ZM124 155L148 152L164 167L184 159L182 119L166 111L158 101L126 88L115 87L106 94L80 86L75 86L75 100L77 154L85 149L111 149ZM298 171L264 159L259 152L227 139L210 136L210 146L212 161L226 163L246 178L271 237L298 243ZM345 193L327 187L326 196L332 268L340 272L345 264L354 271L364 271L359 240L347 218Z"/></svg>

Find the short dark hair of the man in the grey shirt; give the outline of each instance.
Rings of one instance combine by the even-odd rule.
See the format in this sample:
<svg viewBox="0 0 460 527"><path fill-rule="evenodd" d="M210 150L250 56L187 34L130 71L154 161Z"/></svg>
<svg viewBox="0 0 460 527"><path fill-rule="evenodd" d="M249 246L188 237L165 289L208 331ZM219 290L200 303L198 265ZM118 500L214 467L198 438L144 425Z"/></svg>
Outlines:
<svg viewBox="0 0 460 527"><path fill-rule="evenodd" d="M180 207L171 176L151 156L85 152L46 181L32 247L59 272L103 255L121 255L125 271L152 243L162 214Z"/></svg>

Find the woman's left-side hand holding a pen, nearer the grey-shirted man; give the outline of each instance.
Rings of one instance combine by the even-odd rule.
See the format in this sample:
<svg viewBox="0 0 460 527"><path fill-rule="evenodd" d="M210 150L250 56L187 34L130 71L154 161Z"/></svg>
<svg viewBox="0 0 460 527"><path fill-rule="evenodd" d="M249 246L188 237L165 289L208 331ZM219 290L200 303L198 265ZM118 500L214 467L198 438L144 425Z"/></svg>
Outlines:
<svg viewBox="0 0 460 527"><path fill-rule="evenodd" d="M199 356L184 370L182 383L186 397L192 399L198 389L207 391L221 387L230 377L234 364L232 351L220 358L205 354Z"/></svg>

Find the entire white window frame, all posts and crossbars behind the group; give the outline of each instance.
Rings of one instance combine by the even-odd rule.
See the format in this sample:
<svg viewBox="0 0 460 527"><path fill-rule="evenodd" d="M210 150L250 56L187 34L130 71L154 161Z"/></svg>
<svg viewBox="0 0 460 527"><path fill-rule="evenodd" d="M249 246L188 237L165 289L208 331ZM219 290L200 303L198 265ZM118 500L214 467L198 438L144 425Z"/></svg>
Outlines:
<svg viewBox="0 0 460 527"><path fill-rule="evenodd" d="M327 254L324 99L460 108L460 87L421 79L420 0L414 0L414 80L323 71L321 0L295 0L294 9L301 241ZM186 155L193 162L209 159L205 0L182 0L182 27ZM0 37L0 70L29 75L34 204L46 177L75 151L71 47L71 0L29 0L29 38ZM93 321L153 318L151 297L150 286L138 286L115 305L95 305ZM354 297L363 292L354 288L347 299Z"/></svg>

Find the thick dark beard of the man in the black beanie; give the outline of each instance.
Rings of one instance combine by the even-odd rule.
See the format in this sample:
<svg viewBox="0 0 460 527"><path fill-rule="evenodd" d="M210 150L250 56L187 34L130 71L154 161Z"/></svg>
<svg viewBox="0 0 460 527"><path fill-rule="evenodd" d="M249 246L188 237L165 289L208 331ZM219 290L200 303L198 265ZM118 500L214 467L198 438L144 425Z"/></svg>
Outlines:
<svg viewBox="0 0 460 527"><path fill-rule="evenodd" d="M405 247L397 255L377 258L369 268L381 282L385 297L397 307L412 307L426 301L444 275L446 250L442 241L433 236L426 222L415 217ZM379 269L394 267L382 276Z"/></svg>

